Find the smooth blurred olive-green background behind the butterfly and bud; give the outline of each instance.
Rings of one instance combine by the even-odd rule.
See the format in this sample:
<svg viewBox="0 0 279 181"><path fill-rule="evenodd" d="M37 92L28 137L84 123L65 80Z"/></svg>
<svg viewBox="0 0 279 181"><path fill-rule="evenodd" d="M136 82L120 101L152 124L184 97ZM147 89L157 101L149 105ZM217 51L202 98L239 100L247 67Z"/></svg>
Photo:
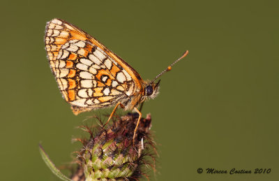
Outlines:
<svg viewBox="0 0 279 181"><path fill-rule="evenodd" d="M160 94L144 104L158 143L151 180L279 180L278 1L2 1L1 180L59 180L93 114L73 115L46 58L45 23L59 17L97 38L152 79ZM121 113L121 110L119 110ZM71 156L72 155L72 156ZM206 174L197 168L269 174ZM67 174L67 172L65 172Z"/></svg>

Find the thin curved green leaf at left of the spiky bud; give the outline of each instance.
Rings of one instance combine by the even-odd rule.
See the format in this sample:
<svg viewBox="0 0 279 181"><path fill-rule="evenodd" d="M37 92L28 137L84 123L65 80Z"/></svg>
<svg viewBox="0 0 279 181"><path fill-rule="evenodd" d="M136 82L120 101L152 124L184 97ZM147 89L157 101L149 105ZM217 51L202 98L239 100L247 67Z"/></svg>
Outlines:
<svg viewBox="0 0 279 181"><path fill-rule="evenodd" d="M48 168L50 168L50 170L52 171L52 173L54 173L54 175L59 177L61 180L73 181L70 178L67 178L65 175L63 175L63 173L61 173L61 171L59 171L59 169L55 167L55 165L50 160L50 157L48 157L47 153L45 152L45 150L43 150L43 147L40 144L39 144L39 150L40 150L40 155L43 158L43 161L45 161L45 164L47 164Z"/></svg>

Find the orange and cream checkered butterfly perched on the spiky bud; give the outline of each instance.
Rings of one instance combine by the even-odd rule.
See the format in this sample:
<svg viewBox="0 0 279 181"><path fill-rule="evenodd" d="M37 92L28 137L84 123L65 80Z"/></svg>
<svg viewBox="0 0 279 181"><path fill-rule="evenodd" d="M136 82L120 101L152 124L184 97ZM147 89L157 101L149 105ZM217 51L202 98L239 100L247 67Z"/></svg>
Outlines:
<svg viewBox="0 0 279 181"><path fill-rule="evenodd" d="M133 140L142 117L137 106L155 98L160 82L155 80L188 55L186 51L152 81L142 80L126 61L82 29L60 19L47 22L45 50L63 99L70 103L73 113L115 105L109 122L118 106L135 110L139 118Z"/></svg>

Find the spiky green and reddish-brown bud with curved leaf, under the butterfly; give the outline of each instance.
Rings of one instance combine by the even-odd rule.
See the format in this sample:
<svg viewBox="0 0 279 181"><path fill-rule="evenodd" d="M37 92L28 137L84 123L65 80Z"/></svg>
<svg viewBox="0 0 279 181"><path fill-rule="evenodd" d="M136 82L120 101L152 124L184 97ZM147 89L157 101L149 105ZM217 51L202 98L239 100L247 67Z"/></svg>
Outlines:
<svg viewBox="0 0 279 181"><path fill-rule="evenodd" d="M96 117L98 119L98 117ZM100 119L98 119L100 121ZM121 117L114 116L112 124L95 126L81 126L90 133L89 139L76 139L83 143L77 155L77 170L71 176L75 181L95 180L140 180L146 176L146 167L151 166L155 171L156 149L151 137L151 116L140 120L135 134L138 120L137 113L128 113ZM65 180L64 176L47 157L41 148L43 159L52 172ZM45 154L45 155L44 155ZM63 176L62 176L63 175Z"/></svg>

